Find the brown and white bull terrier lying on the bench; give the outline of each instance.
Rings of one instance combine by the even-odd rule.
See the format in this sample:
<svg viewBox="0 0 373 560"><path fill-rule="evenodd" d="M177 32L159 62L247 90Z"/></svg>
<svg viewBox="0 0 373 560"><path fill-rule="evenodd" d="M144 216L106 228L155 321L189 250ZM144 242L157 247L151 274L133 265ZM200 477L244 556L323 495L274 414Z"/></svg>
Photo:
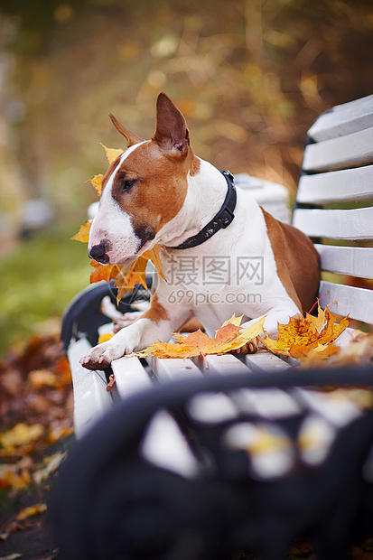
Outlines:
<svg viewBox="0 0 373 560"><path fill-rule="evenodd" d="M194 155L182 113L164 93L156 129L143 140L112 117L128 148L109 166L89 235L89 256L126 265L160 244L163 273L150 308L81 360L103 369L113 359L168 341L196 315L210 336L233 313L244 325L277 322L308 311L319 285L312 241L277 221L247 191Z"/></svg>

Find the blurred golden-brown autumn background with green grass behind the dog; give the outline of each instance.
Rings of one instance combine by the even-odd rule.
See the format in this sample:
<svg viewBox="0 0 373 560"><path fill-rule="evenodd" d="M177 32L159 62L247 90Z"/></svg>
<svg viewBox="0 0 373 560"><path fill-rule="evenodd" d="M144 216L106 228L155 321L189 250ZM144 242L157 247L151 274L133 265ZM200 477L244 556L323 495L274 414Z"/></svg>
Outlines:
<svg viewBox="0 0 373 560"><path fill-rule="evenodd" d="M154 132L164 90L195 151L294 195L307 128L373 92L371 0L0 0L0 328L2 349L89 282L69 243L125 147L107 113ZM53 225L20 241L24 204Z"/></svg>

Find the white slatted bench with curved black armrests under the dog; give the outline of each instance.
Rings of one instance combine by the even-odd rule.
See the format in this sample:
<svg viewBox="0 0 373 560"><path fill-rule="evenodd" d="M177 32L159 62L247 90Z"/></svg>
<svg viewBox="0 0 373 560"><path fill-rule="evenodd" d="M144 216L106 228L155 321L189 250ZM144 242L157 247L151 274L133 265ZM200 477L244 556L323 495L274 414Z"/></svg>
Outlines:
<svg viewBox="0 0 373 560"><path fill-rule="evenodd" d="M334 107L310 129L293 219L314 239L323 275L333 274L322 277L322 307L337 302L333 313L368 324L371 200L373 96ZM97 337L103 294L98 286L72 303L62 337L80 439L56 509L70 560L238 550L271 560L304 536L321 560L340 560L357 516L362 536L373 533L372 412L310 390L371 387L371 369L294 370L266 351L245 361L209 356L208 369L191 359L123 358L112 364L114 406L105 372L79 366Z"/></svg>

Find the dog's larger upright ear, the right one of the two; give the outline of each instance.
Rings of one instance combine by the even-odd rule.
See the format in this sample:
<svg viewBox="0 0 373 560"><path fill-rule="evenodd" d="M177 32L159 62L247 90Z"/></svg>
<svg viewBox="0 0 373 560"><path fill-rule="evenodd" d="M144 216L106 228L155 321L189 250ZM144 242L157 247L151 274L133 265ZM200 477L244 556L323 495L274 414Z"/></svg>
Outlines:
<svg viewBox="0 0 373 560"><path fill-rule="evenodd" d="M190 145L185 118L163 92L157 98L154 140L164 151L173 154L186 154Z"/></svg>

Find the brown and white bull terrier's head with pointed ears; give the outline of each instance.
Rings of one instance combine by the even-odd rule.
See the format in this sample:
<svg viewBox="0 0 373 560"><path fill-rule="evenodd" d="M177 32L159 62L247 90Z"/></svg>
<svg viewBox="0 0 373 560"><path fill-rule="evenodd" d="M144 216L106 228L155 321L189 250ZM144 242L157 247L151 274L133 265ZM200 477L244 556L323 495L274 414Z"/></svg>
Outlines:
<svg viewBox="0 0 373 560"><path fill-rule="evenodd" d="M157 99L151 140L110 117L128 147L103 178L89 234L89 257L102 264L126 265L151 248L157 233L182 209L188 174L197 163L185 119L164 93Z"/></svg>

